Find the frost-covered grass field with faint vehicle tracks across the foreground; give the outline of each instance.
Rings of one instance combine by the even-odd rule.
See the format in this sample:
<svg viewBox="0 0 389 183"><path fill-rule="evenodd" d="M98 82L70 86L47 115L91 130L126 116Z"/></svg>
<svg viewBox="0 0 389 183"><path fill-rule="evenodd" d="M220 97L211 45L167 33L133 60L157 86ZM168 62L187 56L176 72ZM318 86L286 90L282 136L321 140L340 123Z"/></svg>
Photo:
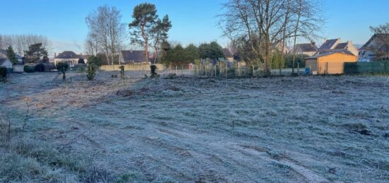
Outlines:
<svg viewBox="0 0 389 183"><path fill-rule="evenodd" d="M139 80L126 73L120 81L111 74L86 81L69 73L65 82L55 73L12 74L0 84L0 110L15 136L88 159L88 171L64 165L62 179L67 172L79 181L389 181L385 76Z"/></svg>

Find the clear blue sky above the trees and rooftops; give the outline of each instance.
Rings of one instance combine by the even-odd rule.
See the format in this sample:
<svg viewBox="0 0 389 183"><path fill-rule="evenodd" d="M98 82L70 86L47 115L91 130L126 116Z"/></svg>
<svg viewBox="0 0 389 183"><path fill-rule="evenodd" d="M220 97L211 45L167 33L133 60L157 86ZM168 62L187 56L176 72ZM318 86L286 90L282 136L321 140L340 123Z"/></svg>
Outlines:
<svg viewBox="0 0 389 183"><path fill-rule="evenodd" d="M170 39L182 45L218 41L226 46L216 23L226 0L1 0L0 34L37 34L52 40L53 53L83 52L88 34L85 18L98 6L116 6L122 23L132 21L134 6L156 4L159 16L168 14L173 23ZM326 19L321 35L363 45L372 35L370 25L389 22L388 0L321 0ZM320 44L320 42L318 42ZM128 48L131 47L127 45Z"/></svg>

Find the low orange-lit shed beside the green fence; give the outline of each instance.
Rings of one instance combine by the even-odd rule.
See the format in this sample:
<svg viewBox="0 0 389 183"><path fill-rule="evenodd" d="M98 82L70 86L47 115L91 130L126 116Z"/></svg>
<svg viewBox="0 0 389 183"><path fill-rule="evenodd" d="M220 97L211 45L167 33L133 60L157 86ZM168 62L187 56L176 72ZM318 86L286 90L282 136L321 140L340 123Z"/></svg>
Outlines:
<svg viewBox="0 0 389 183"><path fill-rule="evenodd" d="M310 73L344 73L344 63L356 62L357 59L358 57L347 49L329 49L307 57L306 68L310 69Z"/></svg>

